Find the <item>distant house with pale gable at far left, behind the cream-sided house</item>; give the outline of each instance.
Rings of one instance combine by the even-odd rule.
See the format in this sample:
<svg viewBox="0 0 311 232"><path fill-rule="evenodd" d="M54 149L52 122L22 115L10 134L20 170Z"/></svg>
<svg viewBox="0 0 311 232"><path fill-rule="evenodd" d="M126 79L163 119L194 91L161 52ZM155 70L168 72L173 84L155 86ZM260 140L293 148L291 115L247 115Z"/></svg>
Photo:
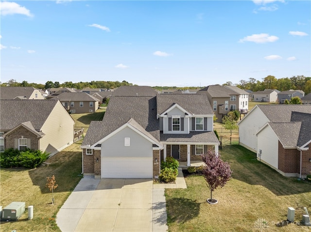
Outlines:
<svg viewBox="0 0 311 232"><path fill-rule="evenodd" d="M34 87L1 87L0 99L34 99L43 100L41 91Z"/></svg>

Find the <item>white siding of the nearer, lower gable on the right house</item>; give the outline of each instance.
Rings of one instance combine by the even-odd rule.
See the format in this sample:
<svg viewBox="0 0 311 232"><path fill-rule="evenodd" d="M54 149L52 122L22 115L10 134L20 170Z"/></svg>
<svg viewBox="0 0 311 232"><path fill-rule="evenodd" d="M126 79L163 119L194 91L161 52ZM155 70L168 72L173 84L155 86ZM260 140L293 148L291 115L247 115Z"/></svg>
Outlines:
<svg viewBox="0 0 311 232"><path fill-rule="evenodd" d="M266 126L258 134L258 151L259 149L261 160L278 169L278 138L270 126Z"/></svg>

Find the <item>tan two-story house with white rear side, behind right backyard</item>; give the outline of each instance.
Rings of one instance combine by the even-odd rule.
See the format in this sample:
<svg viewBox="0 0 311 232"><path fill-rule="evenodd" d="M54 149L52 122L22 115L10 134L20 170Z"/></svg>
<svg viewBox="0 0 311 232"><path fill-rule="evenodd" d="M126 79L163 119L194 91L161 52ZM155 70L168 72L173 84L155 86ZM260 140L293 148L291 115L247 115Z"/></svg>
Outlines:
<svg viewBox="0 0 311 232"><path fill-rule="evenodd" d="M235 87L235 86L234 86ZM239 89L238 87L236 87ZM231 110L239 110L242 113L248 111L248 93L236 88L226 88L221 85L209 85L197 93L205 93L217 117L216 122L222 122L222 118Z"/></svg>

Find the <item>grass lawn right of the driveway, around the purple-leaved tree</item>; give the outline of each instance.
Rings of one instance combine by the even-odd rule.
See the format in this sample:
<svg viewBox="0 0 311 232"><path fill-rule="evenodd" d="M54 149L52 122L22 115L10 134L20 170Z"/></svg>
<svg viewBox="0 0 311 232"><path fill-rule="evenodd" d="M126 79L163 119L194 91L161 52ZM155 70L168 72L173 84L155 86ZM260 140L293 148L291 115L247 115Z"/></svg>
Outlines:
<svg viewBox="0 0 311 232"><path fill-rule="evenodd" d="M223 146L220 153L233 173L213 192L218 204L206 202L210 192L203 176L185 178L187 189L165 190L170 232L311 231L299 226L303 207L311 211L311 182L280 175L239 145ZM286 222L288 207L295 209L292 224Z"/></svg>

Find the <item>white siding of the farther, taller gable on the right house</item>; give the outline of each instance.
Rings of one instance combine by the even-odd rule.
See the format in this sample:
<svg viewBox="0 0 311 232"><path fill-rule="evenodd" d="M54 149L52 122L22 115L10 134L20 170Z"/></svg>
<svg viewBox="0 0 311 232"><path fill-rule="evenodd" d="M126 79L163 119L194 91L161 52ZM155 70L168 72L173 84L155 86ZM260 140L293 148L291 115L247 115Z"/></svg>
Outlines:
<svg viewBox="0 0 311 232"><path fill-rule="evenodd" d="M257 136L255 133L268 121L268 118L259 108L254 108L239 124L240 144L257 152Z"/></svg>

